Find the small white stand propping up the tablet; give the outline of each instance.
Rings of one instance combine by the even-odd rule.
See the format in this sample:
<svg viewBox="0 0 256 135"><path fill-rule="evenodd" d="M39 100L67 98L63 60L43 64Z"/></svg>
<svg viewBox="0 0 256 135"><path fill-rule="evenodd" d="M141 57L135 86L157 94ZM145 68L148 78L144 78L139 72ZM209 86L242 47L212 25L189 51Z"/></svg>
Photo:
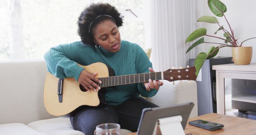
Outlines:
<svg viewBox="0 0 256 135"><path fill-rule="evenodd" d="M158 119L153 135L185 135L181 121L180 115Z"/></svg>

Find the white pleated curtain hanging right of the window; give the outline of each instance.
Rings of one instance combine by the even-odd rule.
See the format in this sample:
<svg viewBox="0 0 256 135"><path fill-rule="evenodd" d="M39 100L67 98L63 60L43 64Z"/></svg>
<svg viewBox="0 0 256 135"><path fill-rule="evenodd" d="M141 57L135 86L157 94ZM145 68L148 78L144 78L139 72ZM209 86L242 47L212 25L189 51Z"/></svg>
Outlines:
<svg viewBox="0 0 256 135"><path fill-rule="evenodd" d="M144 0L146 48L152 48L155 71L186 67L195 51L186 50L187 36L196 29L195 0Z"/></svg>

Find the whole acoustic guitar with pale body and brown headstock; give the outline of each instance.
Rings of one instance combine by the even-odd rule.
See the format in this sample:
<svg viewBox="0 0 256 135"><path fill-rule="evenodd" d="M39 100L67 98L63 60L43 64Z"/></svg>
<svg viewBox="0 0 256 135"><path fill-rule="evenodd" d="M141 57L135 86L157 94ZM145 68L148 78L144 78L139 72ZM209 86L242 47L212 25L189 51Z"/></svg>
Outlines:
<svg viewBox="0 0 256 135"><path fill-rule="evenodd" d="M90 73L98 73L96 77L102 81L101 84L96 83L101 88L99 91L104 87L142 83L148 81L148 79L165 79L168 81L196 79L194 66L184 69L168 69L162 72L114 76L114 70L100 62L88 66L78 65L84 67ZM99 104L98 91L86 91L73 77L59 79L49 72L46 74L44 106L51 115L62 116L83 105L98 106Z"/></svg>

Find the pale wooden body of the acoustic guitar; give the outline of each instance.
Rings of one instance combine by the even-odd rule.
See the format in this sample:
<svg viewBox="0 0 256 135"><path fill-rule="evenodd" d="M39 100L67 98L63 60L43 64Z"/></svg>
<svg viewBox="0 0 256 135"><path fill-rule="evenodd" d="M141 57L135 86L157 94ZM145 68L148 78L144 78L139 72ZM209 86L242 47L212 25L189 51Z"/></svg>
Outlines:
<svg viewBox="0 0 256 135"><path fill-rule="evenodd" d="M97 72L97 78L109 76L108 67L103 63L97 62L88 66L78 65L84 67L90 73ZM58 97L58 81L59 78L51 73L46 74L44 83L44 106L51 115L62 116L74 111L82 105L98 106L100 104L98 91L82 91L79 87L79 83L73 77L64 78L63 99L60 103Z"/></svg>

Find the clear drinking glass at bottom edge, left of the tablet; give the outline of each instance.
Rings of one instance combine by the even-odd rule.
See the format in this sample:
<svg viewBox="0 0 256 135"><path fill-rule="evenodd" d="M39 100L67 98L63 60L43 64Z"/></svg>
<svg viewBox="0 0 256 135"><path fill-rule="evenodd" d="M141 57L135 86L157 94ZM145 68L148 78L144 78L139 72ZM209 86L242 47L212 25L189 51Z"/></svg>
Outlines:
<svg viewBox="0 0 256 135"><path fill-rule="evenodd" d="M116 123L97 125L94 135L120 135L120 125Z"/></svg>

